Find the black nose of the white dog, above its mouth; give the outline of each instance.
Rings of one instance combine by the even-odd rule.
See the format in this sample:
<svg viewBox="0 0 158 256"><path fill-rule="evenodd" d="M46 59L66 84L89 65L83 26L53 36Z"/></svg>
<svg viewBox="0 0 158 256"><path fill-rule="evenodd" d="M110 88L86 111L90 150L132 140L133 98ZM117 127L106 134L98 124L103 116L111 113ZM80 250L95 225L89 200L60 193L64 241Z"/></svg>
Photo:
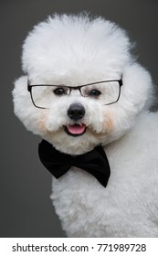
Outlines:
<svg viewBox="0 0 158 256"><path fill-rule="evenodd" d="M70 119L77 121L85 115L85 108L81 104L71 104L68 108L68 116Z"/></svg>

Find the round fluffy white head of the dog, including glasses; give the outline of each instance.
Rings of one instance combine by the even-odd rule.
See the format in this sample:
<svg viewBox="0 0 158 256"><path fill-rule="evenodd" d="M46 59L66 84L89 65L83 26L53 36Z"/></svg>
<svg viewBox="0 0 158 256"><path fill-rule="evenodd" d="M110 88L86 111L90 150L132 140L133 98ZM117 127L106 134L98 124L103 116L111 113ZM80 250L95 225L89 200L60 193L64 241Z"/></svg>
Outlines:
<svg viewBox="0 0 158 256"><path fill-rule="evenodd" d="M26 128L68 154L128 131L151 95L151 78L131 56L126 33L102 18L53 16L23 47L13 91Z"/></svg>

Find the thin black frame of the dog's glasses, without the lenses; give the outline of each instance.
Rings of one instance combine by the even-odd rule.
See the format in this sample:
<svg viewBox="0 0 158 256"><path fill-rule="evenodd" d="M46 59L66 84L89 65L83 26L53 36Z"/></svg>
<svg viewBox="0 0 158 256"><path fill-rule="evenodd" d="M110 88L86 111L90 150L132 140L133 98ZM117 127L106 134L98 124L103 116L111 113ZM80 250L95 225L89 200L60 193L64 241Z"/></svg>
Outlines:
<svg viewBox="0 0 158 256"><path fill-rule="evenodd" d="M121 96L121 86L123 85L122 77L121 77L120 80L101 80L101 81L91 82L91 83L84 84L84 85L79 85L79 86L67 86L67 85L59 85L59 84L58 84L58 85L57 85L57 84L32 84L32 85L30 85L30 84L29 84L29 80L27 80L27 91L30 92L31 100L32 100L34 106L35 106L36 108L38 108L38 109L44 109L44 110L45 110L45 109L48 109L48 108L38 107L38 106L36 105L36 103L34 102L34 99L33 99L33 96L32 96L32 88L33 88L33 87L37 87L37 86L39 86L39 87L40 87L40 86L41 86L41 87L44 87L44 86L54 86L54 87L58 87L58 88L59 88L59 87L68 88L68 89L69 89L69 94L68 94L68 95L70 95L70 93L71 93L72 90L79 90L80 95L82 95L83 97L85 97L85 96L82 94L81 90L80 90L82 87L88 86L88 85L93 85L93 84L100 84L100 83L102 83L102 82L111 82L111 81L117 81L117 82L119 82L119 86L120 86L120 88L119 88L119 95L118 95L117 100L116 100L116 101L113 101L113 102L111 102L111 103L105 104L105 105L111 105L111 104L116 103L116 102L119 101L119 99L120 99L120 96Z"/></svg>

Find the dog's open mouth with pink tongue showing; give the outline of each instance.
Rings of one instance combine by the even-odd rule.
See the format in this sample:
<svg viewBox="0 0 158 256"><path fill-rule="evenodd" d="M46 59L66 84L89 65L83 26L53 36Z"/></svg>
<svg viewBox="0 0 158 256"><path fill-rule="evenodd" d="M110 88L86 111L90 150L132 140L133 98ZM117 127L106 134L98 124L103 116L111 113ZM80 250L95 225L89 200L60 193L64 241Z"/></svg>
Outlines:
<svg viewBox="0 0 158 256"><path fill-rule="evenodd" d="M74 123L74 124L68 124L67 126L64 126L65 132L68 133L68 135L71 136L80 136L86 132L86 125L84 123Z"/></svg>

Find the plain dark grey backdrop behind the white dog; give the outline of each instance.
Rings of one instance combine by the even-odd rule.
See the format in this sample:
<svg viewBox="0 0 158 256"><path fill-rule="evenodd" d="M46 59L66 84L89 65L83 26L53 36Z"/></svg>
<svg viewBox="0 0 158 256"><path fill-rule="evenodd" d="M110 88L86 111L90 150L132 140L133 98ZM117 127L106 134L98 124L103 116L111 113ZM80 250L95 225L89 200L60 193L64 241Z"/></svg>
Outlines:
<svg viewBox="0 0 158 256"><path fill-rule="evenodd" d="M54 12L82 10L128 30L139 61L158 80L158 1L1 0L0 3L0 237L65 237L51 205L51 175L37 156L40 138L26 132L13 112L13 81L21 74L27 32ZM73 193L73 191L72 191Z"/></svg>

